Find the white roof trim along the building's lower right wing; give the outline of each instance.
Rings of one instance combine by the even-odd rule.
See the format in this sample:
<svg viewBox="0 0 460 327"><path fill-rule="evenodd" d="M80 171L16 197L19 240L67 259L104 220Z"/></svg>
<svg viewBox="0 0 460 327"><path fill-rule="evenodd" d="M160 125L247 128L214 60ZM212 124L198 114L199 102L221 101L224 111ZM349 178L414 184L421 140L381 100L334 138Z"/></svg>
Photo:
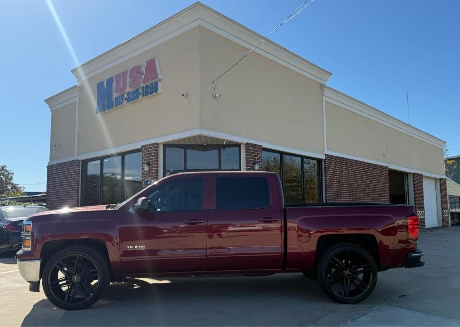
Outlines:
<svg viewBox="0 0 460 327"><path fill-rule="evenodd" d="M418 128L415 128L414 126L404 123L403 121L395 117L392 117L383 111L375 109L370 105L366 105L365 103L357 99L354 99L344 93L341 93L337 90L334 90L333 88L329 88L328 86L324 87L324 97L326 98L326 101L329 103L338 105L341 108L350 110L361 116L372 119L377 123L381 123L385 126L394 128L404 134L408 134L419 140L428 142L431 145L443 148L446 144L445 141L438 139L436 136L428 134Z"/></svg>

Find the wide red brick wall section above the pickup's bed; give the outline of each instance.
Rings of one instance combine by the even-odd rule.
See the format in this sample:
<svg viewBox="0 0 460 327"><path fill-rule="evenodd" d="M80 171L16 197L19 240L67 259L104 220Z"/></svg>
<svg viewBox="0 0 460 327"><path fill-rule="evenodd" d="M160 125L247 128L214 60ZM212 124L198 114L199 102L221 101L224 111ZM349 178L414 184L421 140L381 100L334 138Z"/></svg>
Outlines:
<svg viewBox="0 0 460 327"><path fill-rule="evenodd" d="M388 168L374 163L326 155L326 202L390 201Z"/></svg>

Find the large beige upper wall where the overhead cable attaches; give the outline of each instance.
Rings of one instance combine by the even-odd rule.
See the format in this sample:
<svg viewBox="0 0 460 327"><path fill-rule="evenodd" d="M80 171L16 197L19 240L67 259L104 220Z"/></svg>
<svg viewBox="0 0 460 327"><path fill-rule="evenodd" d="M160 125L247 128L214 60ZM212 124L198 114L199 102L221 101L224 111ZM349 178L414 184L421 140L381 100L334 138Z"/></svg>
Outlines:
<svg viewBox="0 0 460 327"><path fill-rule="evenodd" d="M324 153L320 84L200 28L201 128ZM221 94L219 99L213 93Z"/></svg>

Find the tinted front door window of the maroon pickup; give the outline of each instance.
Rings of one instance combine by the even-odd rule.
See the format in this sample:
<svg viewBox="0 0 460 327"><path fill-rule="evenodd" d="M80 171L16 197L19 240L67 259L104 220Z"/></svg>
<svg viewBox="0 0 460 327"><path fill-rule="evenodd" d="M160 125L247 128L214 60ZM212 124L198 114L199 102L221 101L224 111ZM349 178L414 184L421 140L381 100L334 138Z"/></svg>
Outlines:
<svg viewBox="0 0 460 327"><path fill-rule="evenodd" d="M147 197L149 211L201 210L204 179L183 178L163 184Z"/></svg>

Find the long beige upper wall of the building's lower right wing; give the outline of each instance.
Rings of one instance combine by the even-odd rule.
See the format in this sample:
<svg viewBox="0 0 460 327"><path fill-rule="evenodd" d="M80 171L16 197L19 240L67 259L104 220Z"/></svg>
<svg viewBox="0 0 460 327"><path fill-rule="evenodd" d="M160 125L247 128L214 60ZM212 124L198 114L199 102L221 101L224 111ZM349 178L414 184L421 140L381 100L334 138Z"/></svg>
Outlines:
<svg viewBox="0 0 460 327"><path fill-rule="evenodd" d="M326 140L329 151L444 175L442 148L329 102Z"/></svg>

